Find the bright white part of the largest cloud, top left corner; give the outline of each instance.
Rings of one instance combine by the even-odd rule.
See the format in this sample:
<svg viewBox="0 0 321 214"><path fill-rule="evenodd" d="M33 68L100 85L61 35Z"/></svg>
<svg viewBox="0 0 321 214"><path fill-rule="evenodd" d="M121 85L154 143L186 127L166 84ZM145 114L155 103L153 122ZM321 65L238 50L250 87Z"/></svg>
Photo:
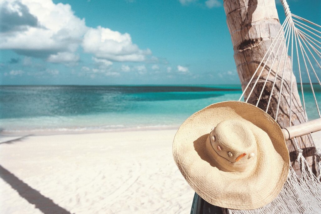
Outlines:
<svg viewBox="0 0 321 214"><path fill-rule="evenodd" d="M25 13L37 20L37 24L27 23L23 29L0 33L0 48L13 49L19 54L46 57L58 52L75 52L88 29L85 20L76 17L69 4L20 0L2 3L0 7L10 17L18 18Z"/></svg>

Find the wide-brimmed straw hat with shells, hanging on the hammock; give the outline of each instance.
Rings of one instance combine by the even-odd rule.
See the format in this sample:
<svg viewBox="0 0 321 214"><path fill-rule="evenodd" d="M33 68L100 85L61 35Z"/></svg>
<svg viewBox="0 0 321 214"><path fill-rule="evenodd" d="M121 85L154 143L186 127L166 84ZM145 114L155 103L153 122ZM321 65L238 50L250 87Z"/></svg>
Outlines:
<svg viewBox="0 0 321 214"><path fill-rule="evenodd" d="M238 210L271 202L290 164L280 126L261 109L238 101L216 103L187 118L175 135L173 157L205 201Z"/></svg>

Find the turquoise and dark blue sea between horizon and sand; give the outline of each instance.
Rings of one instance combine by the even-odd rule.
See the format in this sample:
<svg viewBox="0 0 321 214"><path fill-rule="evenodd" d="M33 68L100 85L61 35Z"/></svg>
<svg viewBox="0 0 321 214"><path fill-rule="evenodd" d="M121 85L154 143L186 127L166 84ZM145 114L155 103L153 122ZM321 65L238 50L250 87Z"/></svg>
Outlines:
<svg viewBox="0 0 321 214"><path fill-rule="evenodd" d="M304 88L309 119L317 118L311 89ZM9 134L177 128L194 112L240 95L239 85L0 86L0 128Z"/></svg>

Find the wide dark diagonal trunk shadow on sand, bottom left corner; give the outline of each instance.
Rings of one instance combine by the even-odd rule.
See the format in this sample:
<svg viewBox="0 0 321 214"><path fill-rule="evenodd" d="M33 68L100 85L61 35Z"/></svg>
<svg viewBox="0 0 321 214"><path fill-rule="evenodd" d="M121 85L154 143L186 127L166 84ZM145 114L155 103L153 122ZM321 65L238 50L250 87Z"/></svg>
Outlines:
<svg viewBox="0 0 321 214"><path fill-rule="evenodd" d="M55 204L50 198L45 197L37 190L31 188L14 174L0 165L0 177L16 190L21 197L26 199L30 204L34 204L35 208L45 214L71 214L69 211Z"/></svg>

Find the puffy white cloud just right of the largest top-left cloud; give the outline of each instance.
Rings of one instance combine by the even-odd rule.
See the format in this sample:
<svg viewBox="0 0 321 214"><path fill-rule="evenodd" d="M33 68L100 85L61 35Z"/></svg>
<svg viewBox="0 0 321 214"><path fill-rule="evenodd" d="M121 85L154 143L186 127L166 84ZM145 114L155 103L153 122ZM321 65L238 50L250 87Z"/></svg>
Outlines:
<svg viewBox="0 0 321 214"><path fill-rule="evenodd" d="M146 59L146 55L152 54L150 49L141 50L133 44L128 33L121 34L101 26L86 32L82 47L86 53L96 57L120 62L141 62Z"/></svg>

